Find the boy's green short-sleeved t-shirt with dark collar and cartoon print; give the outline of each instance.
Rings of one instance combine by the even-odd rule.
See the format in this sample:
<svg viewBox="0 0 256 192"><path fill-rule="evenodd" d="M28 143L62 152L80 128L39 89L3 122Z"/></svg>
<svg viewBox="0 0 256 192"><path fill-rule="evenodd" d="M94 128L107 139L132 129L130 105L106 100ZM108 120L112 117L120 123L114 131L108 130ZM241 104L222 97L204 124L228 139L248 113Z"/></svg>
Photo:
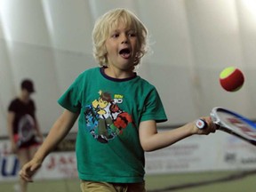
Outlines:
<svg viewBox="0 0 256 192"><path fill-rule="evenodd" d="M91 68L76 78L58 102L63 108L80 113L76 136L80 180L144 180L140 122L167 120L152 84L137 75L115 79L106 76L104 68Z"/></svg>

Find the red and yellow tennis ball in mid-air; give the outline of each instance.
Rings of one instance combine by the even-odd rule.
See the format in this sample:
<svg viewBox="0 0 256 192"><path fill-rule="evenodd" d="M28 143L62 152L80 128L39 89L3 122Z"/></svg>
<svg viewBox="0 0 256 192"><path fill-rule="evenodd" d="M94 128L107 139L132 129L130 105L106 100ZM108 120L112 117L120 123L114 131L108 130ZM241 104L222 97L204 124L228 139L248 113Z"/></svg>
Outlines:
<svg viewBox="0 0 256 192"><path fill-rule="evenodd" d="M220 73L220 85L228 92L236 92L244 84L244 75L239 68L224 68Z"/></svg>

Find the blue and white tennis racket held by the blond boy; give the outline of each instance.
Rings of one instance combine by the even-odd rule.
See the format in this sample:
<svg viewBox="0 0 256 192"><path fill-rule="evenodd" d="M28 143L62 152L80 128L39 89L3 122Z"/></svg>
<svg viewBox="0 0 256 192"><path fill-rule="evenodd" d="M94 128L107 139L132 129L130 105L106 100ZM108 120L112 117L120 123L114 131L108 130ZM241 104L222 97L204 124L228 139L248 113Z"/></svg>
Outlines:
<svg viewBox="0 0 256 192"><path fill-rule="evenodd" d="M250 119L226 108L212 108L210 116L218 130L233 134L256 146L256 124ZM203 119L198 119L196 126L199 129L204 129L207 124Z"/></svg>

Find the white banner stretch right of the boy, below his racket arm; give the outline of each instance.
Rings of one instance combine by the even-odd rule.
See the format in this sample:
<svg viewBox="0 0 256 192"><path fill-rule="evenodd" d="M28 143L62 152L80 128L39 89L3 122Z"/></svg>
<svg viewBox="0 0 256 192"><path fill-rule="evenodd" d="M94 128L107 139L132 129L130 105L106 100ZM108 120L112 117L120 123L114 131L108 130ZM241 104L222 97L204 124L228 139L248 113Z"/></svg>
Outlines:
<svg viewBox="0 0 256 192"><path fill-rule="evenodd" d="M256 168L256 147L226 132L195 135L146 153L147 173Z"/></svg>

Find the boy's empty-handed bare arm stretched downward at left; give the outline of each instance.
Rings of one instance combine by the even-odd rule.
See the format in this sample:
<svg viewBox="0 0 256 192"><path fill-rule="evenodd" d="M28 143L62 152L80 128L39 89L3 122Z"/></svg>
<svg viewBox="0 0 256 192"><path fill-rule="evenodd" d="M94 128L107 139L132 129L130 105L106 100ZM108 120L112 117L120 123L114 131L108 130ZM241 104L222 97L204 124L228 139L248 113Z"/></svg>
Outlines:
<svg viewBox="0 0 256 192"><path fill-rule="evenodd" d="M79 114L72 113L66 109L64 110L62 115L53 124L51 131L42 146L36 151L35 156L20 170L20 177L23 180L32 181L32 176L40 168L44 158L65 138L73 124L75 124L78 116Z"/></svg>

